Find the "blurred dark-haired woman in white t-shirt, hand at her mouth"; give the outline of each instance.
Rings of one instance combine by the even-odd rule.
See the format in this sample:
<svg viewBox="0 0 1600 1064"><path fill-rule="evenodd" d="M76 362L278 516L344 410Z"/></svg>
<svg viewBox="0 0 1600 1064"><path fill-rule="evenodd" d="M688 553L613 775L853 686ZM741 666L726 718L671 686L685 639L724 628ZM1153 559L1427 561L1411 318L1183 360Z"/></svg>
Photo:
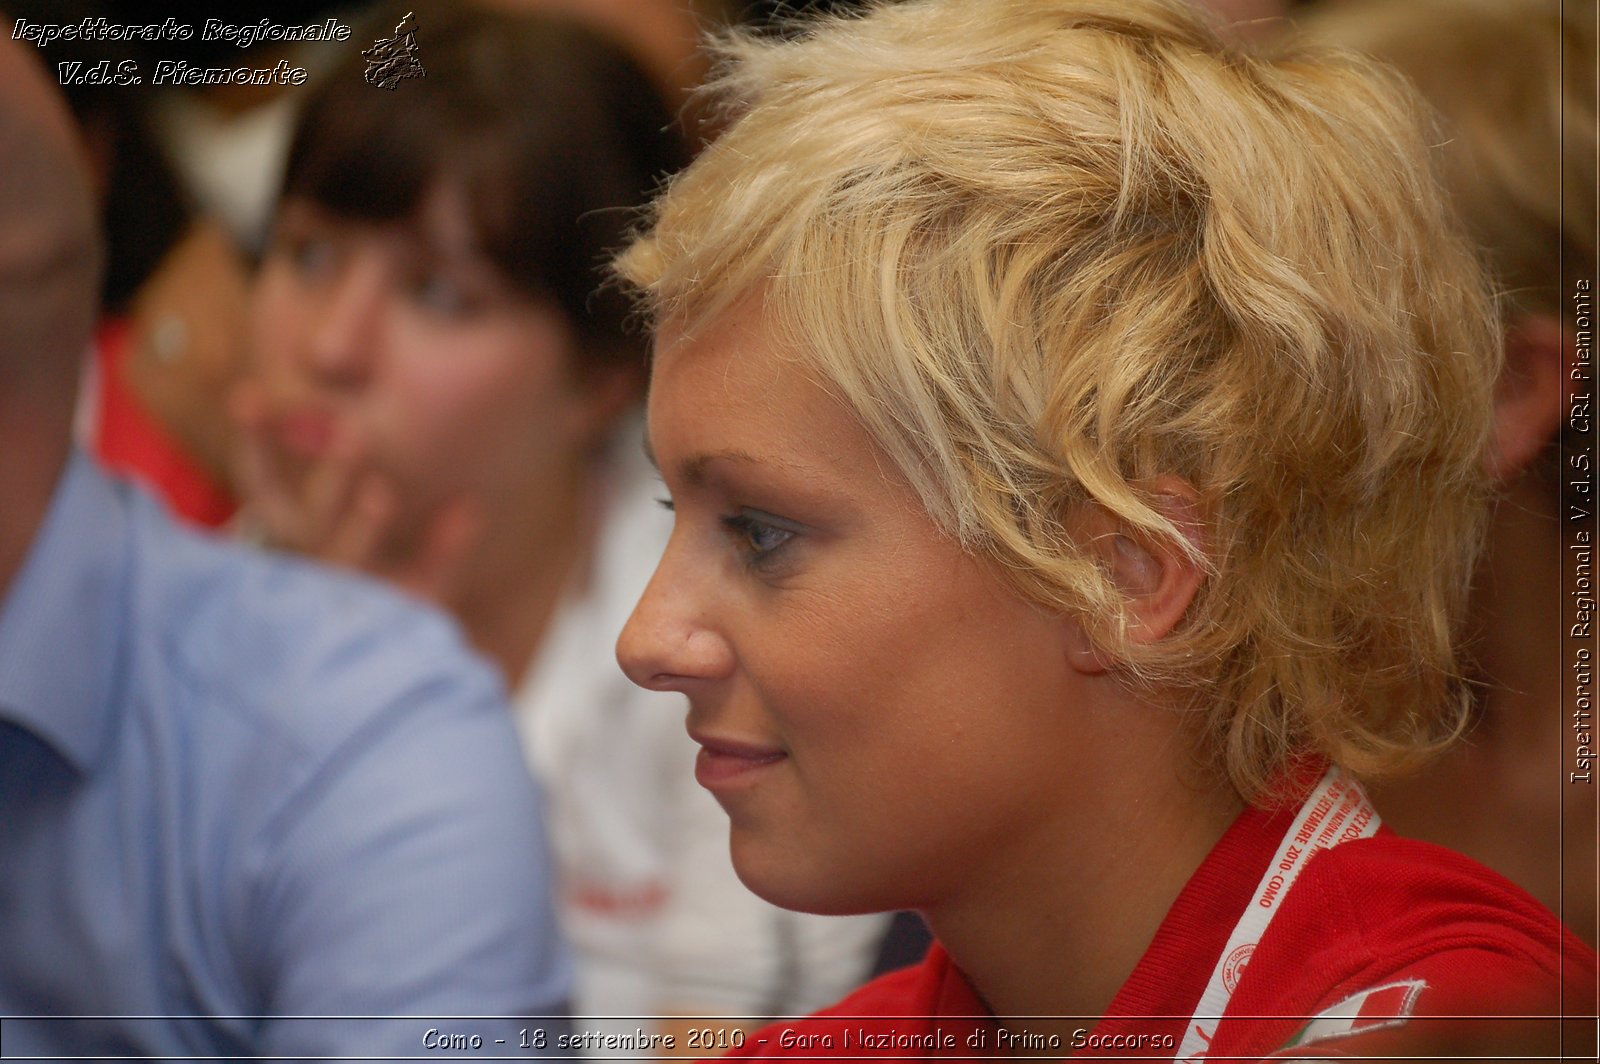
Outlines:
<svg viewBox="0 0 1600 1064"><path fill-rule="evenodd" d="M683 149L606 38L424 14L424 77L384 91L352 58L301 118L235 402L246 518L438 602L499 664L550 797L576 1013L811 1008L859 981L878 923L749 894L672 696L611 661L667 530L629 418L643 341L603 264Z"/></svg>

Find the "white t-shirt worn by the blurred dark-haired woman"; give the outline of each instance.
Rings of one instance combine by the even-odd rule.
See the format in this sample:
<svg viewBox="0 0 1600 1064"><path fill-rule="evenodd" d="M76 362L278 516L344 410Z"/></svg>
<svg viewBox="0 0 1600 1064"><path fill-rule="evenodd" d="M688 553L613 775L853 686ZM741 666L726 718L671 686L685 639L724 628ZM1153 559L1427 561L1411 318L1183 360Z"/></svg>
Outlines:
<svg viewBox="0 0 1600 1064"><path fill-rule="evenodd" d="M888 917L787 912L734 875L728 818L694 782L683 696L634 686L614 659L672 515L637 430L622 434L611 472L587 582L558 610L514 701L547 795L558 912L578 957L573 1013L618 1018L574 1029L816 1011L867 978Z"/></svg>

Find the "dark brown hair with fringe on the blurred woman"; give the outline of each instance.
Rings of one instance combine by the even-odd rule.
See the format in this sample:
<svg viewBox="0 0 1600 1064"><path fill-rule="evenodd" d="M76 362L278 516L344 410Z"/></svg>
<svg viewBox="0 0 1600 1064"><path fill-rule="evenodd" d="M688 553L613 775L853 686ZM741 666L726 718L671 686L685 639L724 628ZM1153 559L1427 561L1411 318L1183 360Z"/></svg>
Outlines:
<svg viewBox="0 0 1600 1064"><path fill-rule="evenodd" d="M325 82L285 197L398 221L454 182L486 258L565 312L582 358L643 365L627 299L603 282L632 208L686 162L654 83L595 30L474 5L430 11L418 58L426 75L394 91L363 80L358 54Z"/></svg>

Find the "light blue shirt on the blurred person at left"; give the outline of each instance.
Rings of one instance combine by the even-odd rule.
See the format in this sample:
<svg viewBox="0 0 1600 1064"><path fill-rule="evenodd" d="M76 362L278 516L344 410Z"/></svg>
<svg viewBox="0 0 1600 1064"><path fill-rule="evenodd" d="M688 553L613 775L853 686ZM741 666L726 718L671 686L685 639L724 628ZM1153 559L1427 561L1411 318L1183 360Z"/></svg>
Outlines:
<svg viewBox="0 0 1600 1064"><path fill-rule="evenodd" d="M0 603L6 1058L526 1054L434 1018L563 1011L550 875L446 619L72 459Z"/></svg>

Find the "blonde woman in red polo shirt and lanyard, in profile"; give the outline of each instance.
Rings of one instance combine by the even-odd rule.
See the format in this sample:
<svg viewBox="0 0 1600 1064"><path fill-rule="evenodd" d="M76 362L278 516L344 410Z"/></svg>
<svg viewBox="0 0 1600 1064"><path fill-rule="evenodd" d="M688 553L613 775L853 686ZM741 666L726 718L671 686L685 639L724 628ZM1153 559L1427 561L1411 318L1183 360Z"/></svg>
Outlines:
<svg viewBox="0 0 1600 1064"><path fill-rule="evenodd" d="M1578 1011L1594 955L1357 782L1461 726L1499 366L1398 82L1157 0L725 58L619 261L675 509L619 658L750 888L938 936L741 1051L1557 1037L1424 1019Z"/></svg>

